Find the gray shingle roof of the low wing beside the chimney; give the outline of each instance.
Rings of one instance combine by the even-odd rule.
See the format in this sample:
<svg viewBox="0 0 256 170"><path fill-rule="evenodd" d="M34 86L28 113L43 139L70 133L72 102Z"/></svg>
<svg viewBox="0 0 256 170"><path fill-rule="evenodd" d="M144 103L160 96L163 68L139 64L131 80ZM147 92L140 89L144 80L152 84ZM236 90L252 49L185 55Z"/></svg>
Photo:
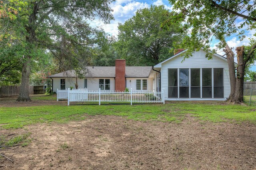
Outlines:
<svg viewBox="0 0 256 170"><path fill-rule="evenodd" d="M126 77L148 77L151 66L126 66ZM115 66L87 66L85 77L115 77ZM68 70L48 77L76 77L74 70Z"/></svg>

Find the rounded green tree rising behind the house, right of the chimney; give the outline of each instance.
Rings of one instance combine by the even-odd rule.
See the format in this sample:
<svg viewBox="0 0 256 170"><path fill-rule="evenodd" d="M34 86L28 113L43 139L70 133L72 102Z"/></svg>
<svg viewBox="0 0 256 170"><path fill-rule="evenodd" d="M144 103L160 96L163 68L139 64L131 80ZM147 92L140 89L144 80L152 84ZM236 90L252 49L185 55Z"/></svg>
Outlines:
<svg viewBox="0 0 256 170"><path fill-rule="evenodd" d="M118 57L128 65L157 64L170 57L175 41L182 40L181 24L161 29L161 23L172 15L164 6L151 6L138 10L136 15L118 26Z"/></svg>

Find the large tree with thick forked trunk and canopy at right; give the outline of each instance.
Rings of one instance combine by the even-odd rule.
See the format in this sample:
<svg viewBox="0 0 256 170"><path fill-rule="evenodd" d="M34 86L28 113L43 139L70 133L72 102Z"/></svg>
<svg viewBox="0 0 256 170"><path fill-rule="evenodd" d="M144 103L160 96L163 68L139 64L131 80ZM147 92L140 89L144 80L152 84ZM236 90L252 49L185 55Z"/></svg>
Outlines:
<svg viewBox="0 0 256 170"><path fill-rule="evenodd" d="M250 47L237 47L238 66L235 72L234 51L229 47L226 39L236 35L239 41L246 37L246 32L256 29L256 0L169 0L176 11L176 15L165 21L163 27L184 22L184 28L190 33L183 39L179 47L188 49L185 54L190 57L194 50L201 47L209 52L212 39L220 41L216 45L223 48L226 54L230 75L230 96L228 101L243 102L243 82L245 68L255 61L256 41L250 37ZM254 33L254 35L256 35ZM216 50L213 50L216 52Z"/></svg>

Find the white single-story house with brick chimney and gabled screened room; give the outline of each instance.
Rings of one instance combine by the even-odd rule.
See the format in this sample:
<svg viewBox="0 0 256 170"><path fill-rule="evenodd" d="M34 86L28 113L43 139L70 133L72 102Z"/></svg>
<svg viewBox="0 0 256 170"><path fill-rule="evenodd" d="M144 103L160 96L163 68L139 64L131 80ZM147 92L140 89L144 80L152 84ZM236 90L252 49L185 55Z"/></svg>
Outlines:
<svg viewBox="0 0 256 170"><path fill-rule="evenodd" d="M226 100L230 94L228 62L225 57L213 54L208 60L200 49L182 62L178 52L155 66L126 66L125 60L116 60L116 66L87 66L84 78L78 78L78 88L88 90L160 91L167 100ZM236 63L234 63L236 64ZM52 91L75 87L74 70L48 76Z"/></svg>

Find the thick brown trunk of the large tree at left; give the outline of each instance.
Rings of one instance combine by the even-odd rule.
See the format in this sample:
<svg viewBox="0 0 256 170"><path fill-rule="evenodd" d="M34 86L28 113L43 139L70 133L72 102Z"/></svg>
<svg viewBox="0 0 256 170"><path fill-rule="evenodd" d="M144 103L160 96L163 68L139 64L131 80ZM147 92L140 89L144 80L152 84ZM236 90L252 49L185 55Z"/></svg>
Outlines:
<svg viewBox="0 0 256 170"><path fill-rule="evenodd" d="M27 57L25 63L22 64L22 77L20 84L20 94L17 102L30 102L29 97L29 74L30 74L31 57Z"/></svg>

